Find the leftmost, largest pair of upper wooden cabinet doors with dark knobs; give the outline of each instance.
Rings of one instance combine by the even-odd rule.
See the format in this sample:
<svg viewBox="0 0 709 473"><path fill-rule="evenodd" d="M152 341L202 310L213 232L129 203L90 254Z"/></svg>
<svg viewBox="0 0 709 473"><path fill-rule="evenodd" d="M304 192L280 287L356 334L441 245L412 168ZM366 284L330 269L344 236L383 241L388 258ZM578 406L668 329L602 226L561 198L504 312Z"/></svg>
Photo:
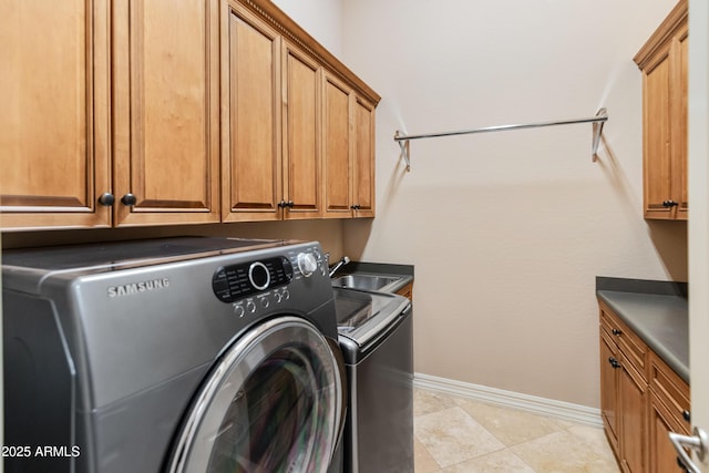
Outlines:
<svg viewBox="0 0 709 473"><path fill-rule="evenodd" d="M218 222L217 6L10 2L4 229Z"/></svg>

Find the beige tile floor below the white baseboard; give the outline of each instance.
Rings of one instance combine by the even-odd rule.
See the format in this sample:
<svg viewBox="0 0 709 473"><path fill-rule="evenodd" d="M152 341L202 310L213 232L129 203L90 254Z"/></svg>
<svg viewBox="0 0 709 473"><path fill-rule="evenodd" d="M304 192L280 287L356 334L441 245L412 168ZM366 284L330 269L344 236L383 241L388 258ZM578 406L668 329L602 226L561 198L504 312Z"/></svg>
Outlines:
<svg viewBox="0 0 709 473"><path fill-rule="evenodd" d="M414 390L415 473L618 473L602 429Z"/></svg>

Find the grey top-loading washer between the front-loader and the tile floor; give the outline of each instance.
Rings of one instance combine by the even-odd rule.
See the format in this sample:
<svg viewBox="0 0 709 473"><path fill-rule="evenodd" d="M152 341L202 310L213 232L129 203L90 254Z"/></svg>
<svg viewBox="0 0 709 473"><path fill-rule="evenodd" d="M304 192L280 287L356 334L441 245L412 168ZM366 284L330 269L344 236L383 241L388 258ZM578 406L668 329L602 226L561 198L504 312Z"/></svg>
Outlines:
<svg viewBox="0 0 709 473"><path fill-rule="evenodd" d="M405 297L335 288L350 388L345 472L413 471L413 312Z"/></svg>

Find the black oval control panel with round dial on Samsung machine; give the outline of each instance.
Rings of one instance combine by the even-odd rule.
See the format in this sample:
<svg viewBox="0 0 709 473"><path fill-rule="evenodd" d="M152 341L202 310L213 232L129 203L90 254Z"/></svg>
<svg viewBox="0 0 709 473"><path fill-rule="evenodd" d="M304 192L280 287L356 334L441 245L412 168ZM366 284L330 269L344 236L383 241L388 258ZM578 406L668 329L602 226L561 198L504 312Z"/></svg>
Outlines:
<svg viewBox="0 0 709 473"><path fill-rule="evenodd" d="M223 266L212 276L212 289L223 302L285 286L292 279L292 265L285 256Z"/></svg>

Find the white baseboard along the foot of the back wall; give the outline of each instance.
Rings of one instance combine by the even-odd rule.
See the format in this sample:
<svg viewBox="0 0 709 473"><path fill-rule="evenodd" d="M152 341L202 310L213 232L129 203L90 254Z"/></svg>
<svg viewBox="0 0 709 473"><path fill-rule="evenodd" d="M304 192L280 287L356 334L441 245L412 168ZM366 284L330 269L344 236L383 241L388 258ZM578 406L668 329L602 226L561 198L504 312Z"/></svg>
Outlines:
<svg viewBox="0 0 709 473"><path fill-rule="evenodd" d="M586 405L573 404L553 399L538 398L514 391L487 388L485 385L439 378L430 374L414 373L413 387L428 391L452 394L459 398L473 399L490 404L521 409L535 414L578 422L603 429L600 410Z"/></svg>

